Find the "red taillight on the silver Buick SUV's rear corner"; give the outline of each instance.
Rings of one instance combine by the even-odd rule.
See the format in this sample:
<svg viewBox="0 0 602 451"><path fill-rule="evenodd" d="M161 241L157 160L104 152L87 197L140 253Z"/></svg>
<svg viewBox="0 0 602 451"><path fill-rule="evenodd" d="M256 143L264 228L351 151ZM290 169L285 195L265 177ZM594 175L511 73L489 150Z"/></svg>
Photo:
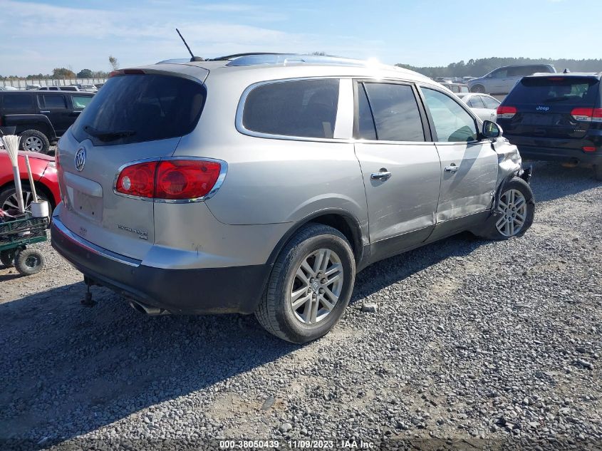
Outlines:
<svg viewBox="0 0 602 451"><path fill-rule="evenodd" d="M214 190L225 169L225 162L214 160L135 163L121 170L115 192L147 199L202 199Z"/></svg>

